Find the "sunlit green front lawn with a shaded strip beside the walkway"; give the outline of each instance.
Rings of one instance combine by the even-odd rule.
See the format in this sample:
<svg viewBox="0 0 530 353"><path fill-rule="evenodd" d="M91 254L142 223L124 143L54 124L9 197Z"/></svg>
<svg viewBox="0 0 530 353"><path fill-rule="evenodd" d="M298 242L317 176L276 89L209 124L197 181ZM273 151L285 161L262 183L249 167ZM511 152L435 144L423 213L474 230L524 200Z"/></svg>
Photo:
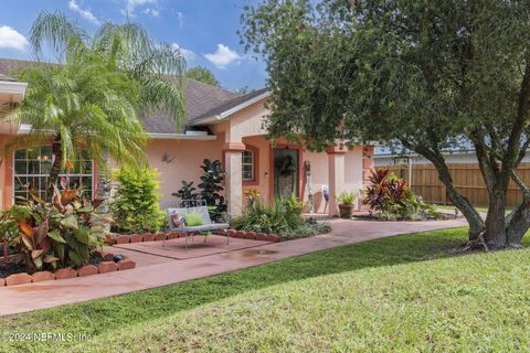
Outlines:
<svg viewBox="0 0 530 353"><path fill-rule="evenodd" d="M169 287L1 318L0 352L524 351L529 250L451 257L466 229L382 238Z"/></svg>

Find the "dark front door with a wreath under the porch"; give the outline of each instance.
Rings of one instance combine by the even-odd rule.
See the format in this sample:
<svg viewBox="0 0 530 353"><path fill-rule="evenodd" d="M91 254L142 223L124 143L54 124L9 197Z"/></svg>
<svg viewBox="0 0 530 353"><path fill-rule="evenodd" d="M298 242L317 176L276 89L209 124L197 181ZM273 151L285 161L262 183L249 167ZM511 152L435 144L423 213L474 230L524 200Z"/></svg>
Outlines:
<svg viewBox="0 0 530 353"><path fill-rule="evenodd" d="M298 196L298 150L274 150L274 195L276 197Z"/></svg>

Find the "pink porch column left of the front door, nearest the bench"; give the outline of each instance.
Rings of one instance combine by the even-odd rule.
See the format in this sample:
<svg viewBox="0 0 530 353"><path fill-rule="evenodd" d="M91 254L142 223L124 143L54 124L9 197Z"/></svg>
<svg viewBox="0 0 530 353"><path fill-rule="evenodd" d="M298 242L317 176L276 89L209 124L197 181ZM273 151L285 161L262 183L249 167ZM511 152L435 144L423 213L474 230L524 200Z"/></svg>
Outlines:
<svg viewBox="0 0 530 353"><path fill-rule="evenodd" d="M224 163L226 169L226 202L229 212L239 216L243 210L243 178L242 152L245 145L242 142L224 143Z"/></svg>

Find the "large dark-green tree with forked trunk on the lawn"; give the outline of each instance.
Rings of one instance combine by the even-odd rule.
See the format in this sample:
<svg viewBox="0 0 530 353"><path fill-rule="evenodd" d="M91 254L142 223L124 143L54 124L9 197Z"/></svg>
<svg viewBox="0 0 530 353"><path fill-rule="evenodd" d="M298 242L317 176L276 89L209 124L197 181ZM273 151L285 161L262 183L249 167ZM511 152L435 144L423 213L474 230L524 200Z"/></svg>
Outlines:
<svg viewBox="0 0 530 353"><path fill-rule="evenodd" d="M269 73L272 137L324 149L381 140L427 158L470 240L518 246L530 225L517 167L530 145L530 7L508 0L266 0L241 35ZM286 132L287 131L287 132ZM456 189L443 150L470 143L486 221ZM510 180L523 202L505 218Z"/></svg>

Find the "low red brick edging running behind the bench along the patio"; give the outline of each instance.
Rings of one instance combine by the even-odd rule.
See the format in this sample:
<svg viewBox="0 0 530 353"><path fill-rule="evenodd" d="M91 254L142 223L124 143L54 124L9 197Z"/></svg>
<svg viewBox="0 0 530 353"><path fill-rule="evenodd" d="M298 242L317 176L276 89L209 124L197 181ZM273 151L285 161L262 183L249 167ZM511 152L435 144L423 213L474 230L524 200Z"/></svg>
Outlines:
<svg viewBox="0 0 530 353"><path fill-rule="evenodd" d="M221 233L216 233L216 234L223 235ZM141 242L161 242L165 239L167 240L176 239L183 236L184 234L179 232L119 234L119 235L107 234L105 242L108 245L115 245L115 244L129 244L129 243L141 243ZM233 238L255 239L255 240L272 242L272 243L276 243L279 240L279 237L276 234L245 232L245 231L235 231L235 229L229 229L229 236Z"/></svg>

